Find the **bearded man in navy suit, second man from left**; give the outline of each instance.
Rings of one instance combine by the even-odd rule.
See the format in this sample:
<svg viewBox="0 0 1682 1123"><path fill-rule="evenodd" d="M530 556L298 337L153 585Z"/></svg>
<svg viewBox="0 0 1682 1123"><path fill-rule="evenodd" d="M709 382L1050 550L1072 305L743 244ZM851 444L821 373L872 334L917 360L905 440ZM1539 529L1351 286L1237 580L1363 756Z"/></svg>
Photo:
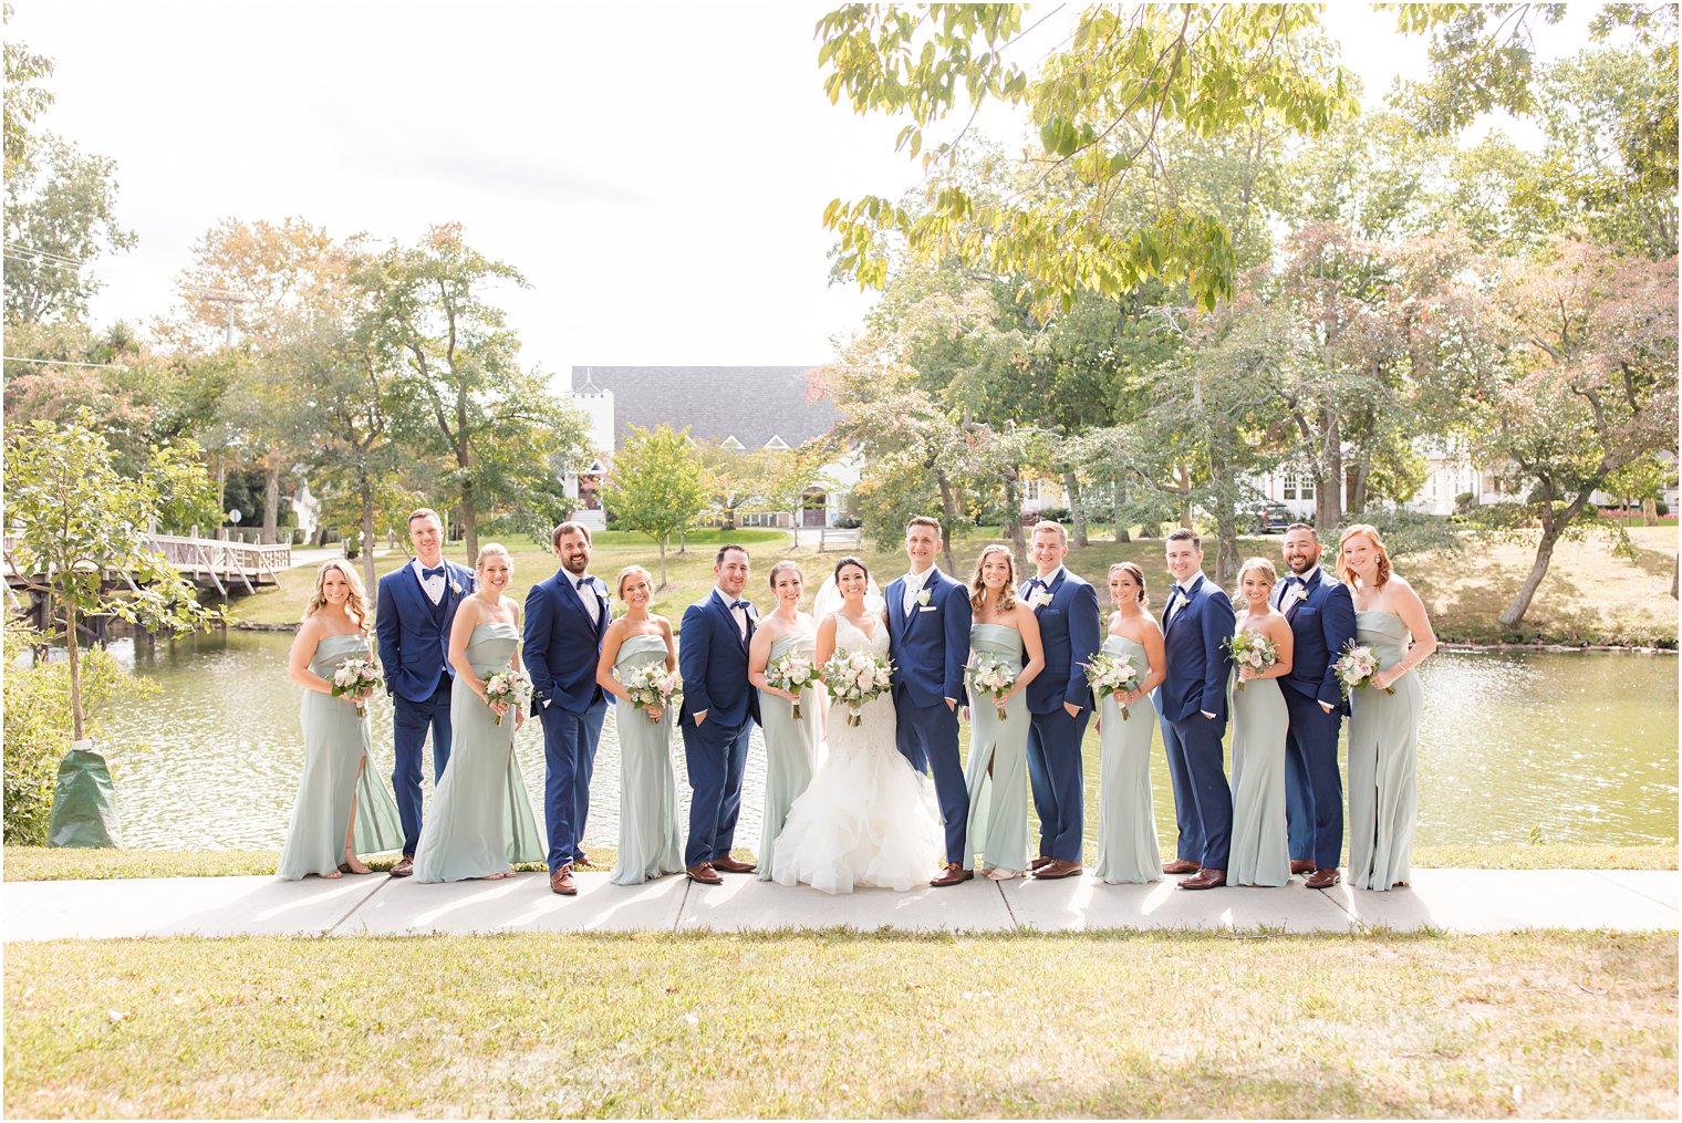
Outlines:
<svg viewBox="0 0 1682 1123"><path fill-rule="evenodd" d="M595 684L595 659L612 620L607 585L590 577L590 528L562 523L550 540L560 570L532 585L525 609L525 666L532 713L543 723L543 822L548 827L548 888L579 889L574 866L587 866L584 820L590 773L602 740L607 696Z"/></svg>

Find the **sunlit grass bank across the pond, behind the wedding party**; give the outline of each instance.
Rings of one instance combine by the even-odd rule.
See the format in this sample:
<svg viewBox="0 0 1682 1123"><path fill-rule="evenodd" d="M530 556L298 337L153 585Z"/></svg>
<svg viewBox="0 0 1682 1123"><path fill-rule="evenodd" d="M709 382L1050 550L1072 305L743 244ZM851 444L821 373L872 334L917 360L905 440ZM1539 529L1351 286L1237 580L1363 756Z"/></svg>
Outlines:
<svg viewBox="0 0 1682 1123"><path fill-rule="evenodd" d="M799 562L806 570L811 597L841 558L834 551L794 548L792 536L775 530L696 531L688 536L685 553L678 553L676 548L668 551L669 585L658 592L654 612L676 622L683 609L706 592L713 582L713 553L725 540L748 546L754 558L748 598L767 609L770 593L765 575L774 562L780 558ZM1630 530L1630 540L1637 551L1633 560L1615 556L1605 538L1561 543L1547 578L1517 632L1504 630L1497 615L1524 580L1536 553L1534 545L1470 540L1460 551L1410 555L1396 565L1420 590L1438 639L1447 642L1547 641L1675 647L1677 602L1670 598L1670 572L1675 565L1677 530L1637 526ZM989 541L999 538L977 530L954 543L959 578L969 578L976 555ZM505 545L513 550L511 593L523 600L533 582L555 572L557 562L552 551L533 545L530 538L510 540ZM1280 538L1277 535L1243 538L1241 551L1265 556L1278 565ZM468 562L461 543L446 550L446 556ZM860 556L883 585L905 570L905 556L898 550L878 551L866 541ZM378 555L378 572L389 573L405 562L407 556L400 550L383 551ZM1115 543L1093 538L1090 546L1070 551L1068 558L1070 568L1100 587L1100 595L1107 587L1105 573L1113 562L1139 563L1156 593L1154 600L1161 605L1161 590L1167 587L1161 540ZM648 567L658 582L658 550L646 535L626 531L597 535L590 567L594 573L611 585L619 570L632 563ZM1213 565L1211 558L1209 568ZM232 609L251 624L294 624L313 582L311 567L288 570L281 575L278 588L237 598ZM1107 604L1107 595L1103 598Z"/></svg>

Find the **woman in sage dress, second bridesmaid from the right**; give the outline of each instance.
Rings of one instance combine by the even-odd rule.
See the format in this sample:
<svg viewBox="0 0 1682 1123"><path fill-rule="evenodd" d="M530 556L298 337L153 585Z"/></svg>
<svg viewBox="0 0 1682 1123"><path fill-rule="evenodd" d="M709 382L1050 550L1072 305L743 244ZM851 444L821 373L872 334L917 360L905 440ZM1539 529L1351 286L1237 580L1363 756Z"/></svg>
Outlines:
<svg viewBox="0 0 1682 1123"><path fill-rule="evenodd" d="M1238 568L1238 634L1260 632L1273 641L1278 662L1263 671L1233 667L1243 689L1231 691L1233 709L1233 854L1226 883L1282 886L1290 883L1290 839L1285 832L1285 733L1290 711L1278 679L1290 674L1293 635L1285 615L1268 604L1278 573L1267 558Z"/></svg>

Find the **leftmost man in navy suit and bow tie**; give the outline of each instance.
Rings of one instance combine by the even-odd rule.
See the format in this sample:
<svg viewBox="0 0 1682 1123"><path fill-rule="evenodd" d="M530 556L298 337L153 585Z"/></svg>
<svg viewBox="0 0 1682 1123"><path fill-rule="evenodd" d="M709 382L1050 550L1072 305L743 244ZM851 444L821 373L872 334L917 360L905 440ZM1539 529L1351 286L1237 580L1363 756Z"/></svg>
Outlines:
<svg viewBox="0 0 1682 1123"><path fill-rule="evenodd" d="M444 560L444 521L437 511L420 508L409 516L409 541L414 560L380 578L373 610L385 693L395 711L392 792L404 824L404 854L392 866L394 878L414 873L420 844L420 748L427 730L434 787L449 765L449 691L456 683L446 657L449 625L461 598L473 592L473 570Z"/></svg>

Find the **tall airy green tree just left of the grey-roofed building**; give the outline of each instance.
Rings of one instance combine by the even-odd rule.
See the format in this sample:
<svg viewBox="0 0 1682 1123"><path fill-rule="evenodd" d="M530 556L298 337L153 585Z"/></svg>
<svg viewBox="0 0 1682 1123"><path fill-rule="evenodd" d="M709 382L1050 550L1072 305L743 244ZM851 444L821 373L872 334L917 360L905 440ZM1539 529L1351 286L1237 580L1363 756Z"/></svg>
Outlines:
<svg viewBox="0 0 1682 1123"><path fill-rule="evenodd" d="M399 373L400 434L446 464L468 553L478 553L481 514L565 503L563 471L590 456L589 422L516 363L520 343L488 291L523 286L520 272L447 224L419 245L363 259L358 281L373 306L375 351Z"/></svg>

